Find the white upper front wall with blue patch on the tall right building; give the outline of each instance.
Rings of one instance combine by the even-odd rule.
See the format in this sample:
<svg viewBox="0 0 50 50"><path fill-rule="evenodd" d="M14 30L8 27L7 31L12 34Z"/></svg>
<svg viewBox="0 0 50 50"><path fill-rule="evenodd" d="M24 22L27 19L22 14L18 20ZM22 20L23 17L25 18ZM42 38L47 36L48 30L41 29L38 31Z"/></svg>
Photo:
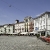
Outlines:
<svg viewBox="0 0 50 50"><path fill-rule="evenodd" d="M39 17L39 18L36 18L35 20L34 20L34 30L45 30L45 29L47 29L46 27L46 18L47 18L47 15L45 14L45 15L43 15L43 16L41 16L41 17Z"/></svg>

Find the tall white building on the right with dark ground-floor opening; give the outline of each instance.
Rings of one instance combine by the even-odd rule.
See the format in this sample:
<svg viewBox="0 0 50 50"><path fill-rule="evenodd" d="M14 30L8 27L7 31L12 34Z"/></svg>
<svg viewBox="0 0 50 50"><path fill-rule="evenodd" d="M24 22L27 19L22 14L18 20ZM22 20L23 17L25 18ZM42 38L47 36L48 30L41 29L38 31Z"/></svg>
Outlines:
<svg viewBox="0 0 50 50"><path fill-rule="evenodd" d="M50 33L50 12L44 12L34 19L34 31L40 35Z"/></svg>

